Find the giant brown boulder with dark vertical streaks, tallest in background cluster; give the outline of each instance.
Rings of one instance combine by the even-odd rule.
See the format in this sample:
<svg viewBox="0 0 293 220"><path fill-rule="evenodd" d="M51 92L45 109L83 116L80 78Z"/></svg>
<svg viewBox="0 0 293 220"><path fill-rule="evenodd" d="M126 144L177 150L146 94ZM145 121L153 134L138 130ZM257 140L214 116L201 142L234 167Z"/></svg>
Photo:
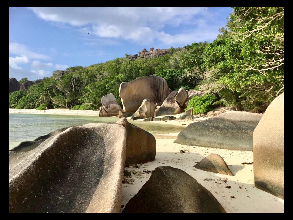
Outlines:
<svg viewBox="0 0 293 220"><path fill-rule="evenodd" d="M170 92L165 79L153 75L122 82L119 87L123 110L130 113L134 113L144 99L161 105Z"/></svg>

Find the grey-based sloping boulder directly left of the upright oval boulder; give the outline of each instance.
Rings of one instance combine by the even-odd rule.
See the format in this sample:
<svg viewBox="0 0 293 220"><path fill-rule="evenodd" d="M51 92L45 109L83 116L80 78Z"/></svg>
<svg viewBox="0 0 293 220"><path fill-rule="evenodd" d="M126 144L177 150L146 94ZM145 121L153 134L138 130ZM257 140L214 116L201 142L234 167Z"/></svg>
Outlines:
<svg viewBox="0 0 293 220"><path fill-rule="evenodd" d="M161 107L156 111L155 116L163 115L176 115L182 111L182 108L178 105L177 101L173 96L167 97Z"/></svg>

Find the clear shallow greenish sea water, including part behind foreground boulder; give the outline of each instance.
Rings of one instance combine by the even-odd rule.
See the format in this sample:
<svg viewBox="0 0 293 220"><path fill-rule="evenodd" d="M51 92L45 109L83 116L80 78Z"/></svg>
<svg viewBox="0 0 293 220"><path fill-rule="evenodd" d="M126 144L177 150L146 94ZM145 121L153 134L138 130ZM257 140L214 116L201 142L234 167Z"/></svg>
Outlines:
<svg viewBox="0 0 293 220"><path fill-rule="evenodd" d="M9 113L9 149L21 141L33 141L39 136L46 135L59 128L87 123L115 123L117 117L18 114ZM152 133L173 133L183 130L181 126L130 121L136 126Z"/></svg>

